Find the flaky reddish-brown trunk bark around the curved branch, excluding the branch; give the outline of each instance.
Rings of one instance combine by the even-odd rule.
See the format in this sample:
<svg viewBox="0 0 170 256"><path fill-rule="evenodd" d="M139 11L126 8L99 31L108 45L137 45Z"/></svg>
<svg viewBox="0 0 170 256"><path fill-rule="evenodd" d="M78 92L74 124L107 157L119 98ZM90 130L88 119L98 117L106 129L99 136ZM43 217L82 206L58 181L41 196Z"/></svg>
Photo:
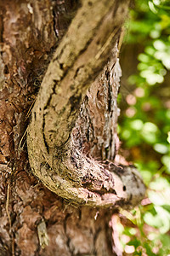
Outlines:
<svg viewBox="0 0 170 256"><path fill-rule="evenodd" d="M88 6L92 4L90 1L87 3ZM43 186L42 181L33 176L26 149L26 129L31 121L31 109L37 99L37 91L48 64L56 53L55 49L59 49L65 31L80 6L80 2L70 0L0 1L2 256L113 255L109 221L114 208L108 210L75 207L74 201L63 199L51 192ZM118 3L112 7L115 10L114 15L118 7ZM95 73L91 73L92 78L88 82L94 80L94 84L82 102L77 120L75 114L80 99L78 102L73 101L71 110L74 121L68 130L70 132L75 126L71 134L73 142L77 144L77 148L81 148L83 155L93 157L99 163L101 160L113 160L118 144L116 96L120 68L116 45L120 32L112 41L114 51L111 52L110 62L104 71L101 72L108 61L108 53L99 68L93 66ZM69 62L67 64L69 67ZM99 71L101 74L97 79ZM86 90L82 93L85 95ZM51 91L47 91L47 94L51 94ZM80 98L82 97L81 95ZM54 102L57 100L54 99ZM46 122L49 120L50 118ZM48 135L50 134L47 131L47 140ZM61 138L61 142L65 141L65 137ZM105 166L108 166L106 161ZM120 175L119 173L118 176ZM100 187L99 184L99 190ZM88 189L95 192L94 188Z"/></svg>

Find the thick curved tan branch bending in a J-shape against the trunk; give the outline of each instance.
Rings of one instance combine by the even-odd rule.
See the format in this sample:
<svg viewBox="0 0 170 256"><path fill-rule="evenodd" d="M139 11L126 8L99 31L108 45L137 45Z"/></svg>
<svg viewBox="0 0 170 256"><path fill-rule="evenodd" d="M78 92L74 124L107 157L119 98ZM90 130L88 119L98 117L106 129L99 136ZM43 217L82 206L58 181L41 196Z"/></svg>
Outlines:
<svg viewBox="0 0 170 256"><path fill-rule="evenodd" d="M56 194L93 207L135 205L144 194L133 168L90 160L71 137L83 96L112 48L116 54L127 6L128 1L82 1L49 64L28 131L32 172Z"/></svg>

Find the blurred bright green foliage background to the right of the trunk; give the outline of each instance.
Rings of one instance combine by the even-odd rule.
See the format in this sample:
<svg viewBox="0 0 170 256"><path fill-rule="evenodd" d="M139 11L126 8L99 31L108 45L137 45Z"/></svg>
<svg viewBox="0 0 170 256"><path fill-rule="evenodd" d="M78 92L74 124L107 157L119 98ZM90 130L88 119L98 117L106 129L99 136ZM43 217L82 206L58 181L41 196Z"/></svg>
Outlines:
<svg viewBox="0 0 170 256"><path fill-rule="evenodd" d="M121 152L147 186L117 221L123 255L170 255L170 1L135 0L122 46ZM126 221L125 221L126 219Z"/></svg>

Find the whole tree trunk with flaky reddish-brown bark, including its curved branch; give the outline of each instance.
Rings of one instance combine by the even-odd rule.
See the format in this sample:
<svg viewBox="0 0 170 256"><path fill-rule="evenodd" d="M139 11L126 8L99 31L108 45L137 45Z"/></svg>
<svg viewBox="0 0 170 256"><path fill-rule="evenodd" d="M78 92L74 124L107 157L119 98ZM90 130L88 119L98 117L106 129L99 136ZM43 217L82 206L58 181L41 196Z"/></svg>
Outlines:
<svg viewBox="0 0 170 256"><path fill-rule="evenodd" d="M128 5L0 2L0 255L113 255L111 215L142 199L114 162Z"/></svg>

